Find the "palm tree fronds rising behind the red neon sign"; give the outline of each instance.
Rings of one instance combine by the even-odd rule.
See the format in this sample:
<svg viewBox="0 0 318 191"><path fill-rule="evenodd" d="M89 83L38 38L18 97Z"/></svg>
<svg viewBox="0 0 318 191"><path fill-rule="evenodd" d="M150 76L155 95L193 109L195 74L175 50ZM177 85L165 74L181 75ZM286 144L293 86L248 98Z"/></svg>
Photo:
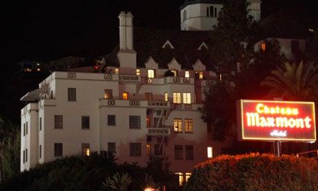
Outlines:
<svg viewBox="0 0 318 191"><path fill-rule="evenodd" d="M268 98L315 101L318 98L318 66L314 62L289 64L277 67L261 82L270 87Z"/></svg>

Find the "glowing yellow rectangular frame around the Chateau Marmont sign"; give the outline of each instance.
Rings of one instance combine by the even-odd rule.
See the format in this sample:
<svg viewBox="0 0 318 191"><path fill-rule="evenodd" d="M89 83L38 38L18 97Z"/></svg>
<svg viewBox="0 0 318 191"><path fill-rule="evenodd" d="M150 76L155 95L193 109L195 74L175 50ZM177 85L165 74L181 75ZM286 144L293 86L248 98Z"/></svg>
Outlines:
<svg viewBox="0 0 318 191"><path fill-rule="evenodd" d="M312 105L312 124L314 136L313 138L283 138L283 137L252 137L245 136L244 134L244 116L243 113L243 102L259 102L259 103L279 103L279 104L311 104ZM246 112L246 111L245 111ZM301 101L281 101L281 100L237 100L236 101L236 117L237 117L237 136L238 140L263 140L263 141L292 141L292 142L302 142L302 143L315 143L317 140L317 131L316 131L316 121L315 121L315 102L301 102ZM262 127L263 128L263 127ZM281 128L281 127L279 127Z"/></svg>

